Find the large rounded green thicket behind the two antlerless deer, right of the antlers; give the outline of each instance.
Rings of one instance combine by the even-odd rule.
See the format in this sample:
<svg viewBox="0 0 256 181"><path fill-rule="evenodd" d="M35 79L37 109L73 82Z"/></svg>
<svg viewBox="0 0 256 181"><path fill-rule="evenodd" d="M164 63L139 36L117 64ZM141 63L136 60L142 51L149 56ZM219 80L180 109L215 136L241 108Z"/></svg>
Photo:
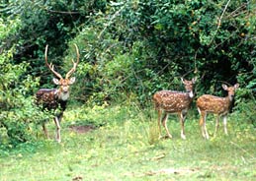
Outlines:
<svg viewBox="0 0 256 181"><path fill-rule="evenodd" d="M246 86L255 79L255 6L225 3L109 3L74 39L85 59L78 74L83 86L75 90L96 103L129 94L145 102L155 91L182 90L177 80L183 75L200 77L199 94L221 91L221 82Z"/></svg>

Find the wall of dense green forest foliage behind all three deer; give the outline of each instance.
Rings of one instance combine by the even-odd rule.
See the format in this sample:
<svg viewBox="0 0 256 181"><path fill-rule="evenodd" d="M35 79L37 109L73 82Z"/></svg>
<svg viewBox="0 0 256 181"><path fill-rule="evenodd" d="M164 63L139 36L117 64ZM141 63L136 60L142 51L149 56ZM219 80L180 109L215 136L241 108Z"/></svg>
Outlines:
<svg viewBox="0 0 256 181"><path fill-rule="evenodd" d="M158 90L182 90L177 80L183 75L201 78L199 94L219 87L219 82L238 81L241 87L255 82L253 1L2 4L3 20L18 17L20 21L13 36L8 36L9 44L19 39L14 58L30 62L28 72L41 77L41 85L51 85L42 63L45 44L61 74L70 68L72 44L78 44L81 61L73 91L82 102L102 104L129 94L145 102Z"/></svg>

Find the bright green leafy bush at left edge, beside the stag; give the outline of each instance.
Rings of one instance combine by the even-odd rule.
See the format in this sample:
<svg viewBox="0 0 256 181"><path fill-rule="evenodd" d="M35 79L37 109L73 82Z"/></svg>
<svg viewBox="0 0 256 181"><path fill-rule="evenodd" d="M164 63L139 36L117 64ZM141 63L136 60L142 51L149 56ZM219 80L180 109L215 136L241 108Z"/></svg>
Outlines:
<svg viewBox="0 0 256 181"><path fill-rule="evenodd" d="M43 114L33 104L30 95L38 86L39 80L26 76L27 63L14 65L12 49L0 55L0 127L1 144L32 140L33 130L39 124ZM35 134L35 133L34 133ZM8 139L3 139L8 137Z"/></svg>

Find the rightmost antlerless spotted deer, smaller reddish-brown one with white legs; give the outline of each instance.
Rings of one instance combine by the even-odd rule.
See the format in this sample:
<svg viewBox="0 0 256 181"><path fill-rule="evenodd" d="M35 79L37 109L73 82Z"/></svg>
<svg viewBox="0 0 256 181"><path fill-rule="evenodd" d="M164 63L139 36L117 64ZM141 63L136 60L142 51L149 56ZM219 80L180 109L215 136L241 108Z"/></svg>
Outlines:
<svg viewBox="0 0 256 181"><path fill-rule="evenodd" d="M202 129L202 136L205 139L209 139L206 123L208 113L216 114L214 136L216 135L218 129L218 120L220 116L223 116L224 133L227 135L226 116L233 101L234 93L238 89L238 87L238 84L234 85L233 87L227 87L226 85L222 85L223 90L228 92L228 95L226 97L204 94L197 99L197 107L201 116L200 125Z"/></svg>

